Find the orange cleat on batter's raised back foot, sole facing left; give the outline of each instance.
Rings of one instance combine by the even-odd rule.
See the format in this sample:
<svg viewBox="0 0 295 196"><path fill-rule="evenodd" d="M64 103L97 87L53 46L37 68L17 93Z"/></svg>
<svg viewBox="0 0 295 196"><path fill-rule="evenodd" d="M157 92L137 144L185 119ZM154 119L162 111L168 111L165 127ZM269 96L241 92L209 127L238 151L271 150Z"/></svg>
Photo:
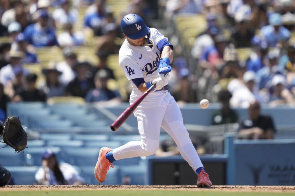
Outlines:
<svg viewBox="0 0 295 196"><path fill-rule="evenodd" d="M107 172L110 166L113 168L114 165L105 157L105 154L110 152L112 149L103 147L99 151L98 160L94 168L94 175L98 182L103 183L107 177Z"/></svg>

